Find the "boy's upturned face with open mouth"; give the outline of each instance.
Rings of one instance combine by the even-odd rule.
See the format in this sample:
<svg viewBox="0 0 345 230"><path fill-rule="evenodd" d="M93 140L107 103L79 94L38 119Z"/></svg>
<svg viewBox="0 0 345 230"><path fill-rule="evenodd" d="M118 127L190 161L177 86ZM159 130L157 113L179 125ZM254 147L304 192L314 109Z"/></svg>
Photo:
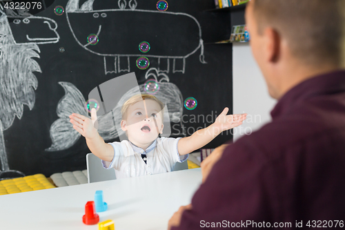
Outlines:
<svg viewBox="0 0 345 230"><path fill-rule="evenodd" d="M127 131L128 140L134 144L153 142L163 131L161 107L155 100L144 99L128 107L121 129Z"/></svg>

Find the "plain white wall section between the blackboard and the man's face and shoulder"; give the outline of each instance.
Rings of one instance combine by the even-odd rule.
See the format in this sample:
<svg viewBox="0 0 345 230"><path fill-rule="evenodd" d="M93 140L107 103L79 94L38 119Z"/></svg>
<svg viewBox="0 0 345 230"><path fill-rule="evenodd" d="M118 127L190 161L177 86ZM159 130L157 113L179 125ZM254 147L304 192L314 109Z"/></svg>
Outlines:
<svg viewBox="0 0 345 230"><path fill-rule="evenodd" d="M233 44L233 113L248 113L244 124L233 129L234 142L270 122L275 104L249 44Z"/></svg>

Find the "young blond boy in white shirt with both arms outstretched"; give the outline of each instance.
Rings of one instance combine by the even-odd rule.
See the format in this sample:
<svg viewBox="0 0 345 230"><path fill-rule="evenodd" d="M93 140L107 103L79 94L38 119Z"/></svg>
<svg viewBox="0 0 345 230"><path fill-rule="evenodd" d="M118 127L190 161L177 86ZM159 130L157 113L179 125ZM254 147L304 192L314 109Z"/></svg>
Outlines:
<svg viewBox="0 0 345 230"><path fill-rule="evenodd" d="M91 119L73 113L70 122L83 137L90 151L102 160L106 169L114 168L117 179L172 171L176 162L184 162L188 153L201 148L219 133L242 124L244 115L226 115L228 108L215 123L190 137L158 137L163 132L164 104L153 95L130 97L121 108L121 129L128 140L106 144L93 124L97 119L92 108Z"/></svg>

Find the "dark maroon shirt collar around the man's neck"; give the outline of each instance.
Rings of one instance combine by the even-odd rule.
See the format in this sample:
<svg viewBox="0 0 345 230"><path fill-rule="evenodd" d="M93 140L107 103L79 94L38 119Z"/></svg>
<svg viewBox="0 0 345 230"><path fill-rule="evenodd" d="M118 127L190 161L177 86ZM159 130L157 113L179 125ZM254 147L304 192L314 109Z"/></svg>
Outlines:
<svg viewBox="0 0 345 230"><path fill-rule="evenodd" d="M270 115L273 119L286 113L289 108L310 97L319 95L328 95L332 93L345 91L345 70L337 70L332 73L326 73L307 79L297 86L288 90L288 92L279 99Z"/></svg>

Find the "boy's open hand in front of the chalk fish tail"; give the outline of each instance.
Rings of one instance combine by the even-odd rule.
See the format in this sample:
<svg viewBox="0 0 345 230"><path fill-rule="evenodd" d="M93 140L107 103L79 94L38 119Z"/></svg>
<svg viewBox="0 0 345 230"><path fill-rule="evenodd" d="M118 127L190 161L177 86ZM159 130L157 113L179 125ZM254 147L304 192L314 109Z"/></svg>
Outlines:
<svg viewBox="0 0 345 230"><path fill-rule="evenodd" d="M91 119L78 113L72 113L72 115L70 115L70 123L73 124L73 128L83 137L90 139L97 135L97 129L93 126L96 120L97 113L95 108L91 109Z"/></svg>

